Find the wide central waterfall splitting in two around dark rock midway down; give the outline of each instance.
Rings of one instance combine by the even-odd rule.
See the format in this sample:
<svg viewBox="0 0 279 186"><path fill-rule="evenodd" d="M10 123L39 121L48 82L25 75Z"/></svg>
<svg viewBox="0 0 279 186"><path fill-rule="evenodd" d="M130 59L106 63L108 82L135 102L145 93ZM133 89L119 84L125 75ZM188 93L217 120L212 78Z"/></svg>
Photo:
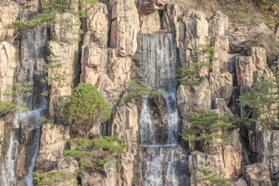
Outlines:
<svg viewBox="0 0 279 186"><path fill-rule="evenodd" d="M177 55L175 34L138 34L137 77L147 88L161 88L167 103L164 127L167 142L156 139L155 123L150 117L149 102L143 101L140 116L140 182L142 185L189 185L188 155L178 144L176 106Z"/></svg>

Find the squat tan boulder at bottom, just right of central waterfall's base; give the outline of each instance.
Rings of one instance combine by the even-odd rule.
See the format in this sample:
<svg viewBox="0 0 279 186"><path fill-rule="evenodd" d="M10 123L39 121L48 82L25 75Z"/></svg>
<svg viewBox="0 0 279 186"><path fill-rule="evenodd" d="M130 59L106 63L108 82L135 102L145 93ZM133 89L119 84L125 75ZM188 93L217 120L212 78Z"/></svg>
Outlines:
<svg viewBox="0 0 279 186"><path fill-rule="evenodd" d="M208 176L212 176L217 173L218 175L224 175L224 164L222 155L217 152L216 155L204 154L202 152L194 151L188 158L188 167L191 174L190 183L198 178L197 168L207 168L212 171ZM197 183L195 186L202 186L202 183Z"/></svg>

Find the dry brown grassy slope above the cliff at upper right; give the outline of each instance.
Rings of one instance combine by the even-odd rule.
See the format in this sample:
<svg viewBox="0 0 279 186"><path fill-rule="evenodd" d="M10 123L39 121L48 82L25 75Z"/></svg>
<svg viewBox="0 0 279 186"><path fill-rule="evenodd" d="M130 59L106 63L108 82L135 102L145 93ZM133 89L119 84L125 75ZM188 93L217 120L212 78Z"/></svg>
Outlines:
<svg viewBox="0 0 279 186"><path fill-rule="evenodd" d="M229 18L229 28L251 26L258 23L265 23L271 30L274 30L279 21L272 12L260 10L251 1L242 0L243 5L228 4L224 0L171 0L178 2L182 12L188 9L204 12L207 20L211 18L215 10L220 10Z"/></svg>

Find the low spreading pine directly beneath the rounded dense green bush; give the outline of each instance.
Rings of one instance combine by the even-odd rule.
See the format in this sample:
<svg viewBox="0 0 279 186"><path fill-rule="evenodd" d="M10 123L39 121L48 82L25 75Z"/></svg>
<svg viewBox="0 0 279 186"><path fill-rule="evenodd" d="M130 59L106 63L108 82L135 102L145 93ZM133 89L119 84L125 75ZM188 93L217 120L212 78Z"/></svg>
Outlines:
<svg viewBox="0 0 279 186"><path fill-rule="evenodd" d="M124 153L127 147L124 140L118 136L104 136L100 139L86 140L84 138L67 139L67 142L75 150L64 150L63 154L78 159L79 171L99 170L108 161L114 160L116 156ZM117 168L119 165L115 165Z"/></svg>

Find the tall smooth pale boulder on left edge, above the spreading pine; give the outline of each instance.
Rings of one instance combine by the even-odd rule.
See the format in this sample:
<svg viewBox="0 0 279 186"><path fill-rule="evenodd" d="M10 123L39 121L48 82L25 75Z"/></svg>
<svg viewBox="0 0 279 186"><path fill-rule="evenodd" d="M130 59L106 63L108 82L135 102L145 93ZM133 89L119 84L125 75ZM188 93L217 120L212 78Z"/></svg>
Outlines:
<svg viewBox="0 0 279 186"><path fill-rule="evenodd" d="M0 1L0 7L1 7ZM1 20L1 10L0 10ZM1 30L0 30L1 31ZM1 37L1 32L0 32ZM1 38L0 38L1 40ZM0 91L12 91L12 83L14 77L14 69L16 68L15 62L16 49L7 42L0 43ZM12 98L0 94L0 101L12 101Z"/></svg>

